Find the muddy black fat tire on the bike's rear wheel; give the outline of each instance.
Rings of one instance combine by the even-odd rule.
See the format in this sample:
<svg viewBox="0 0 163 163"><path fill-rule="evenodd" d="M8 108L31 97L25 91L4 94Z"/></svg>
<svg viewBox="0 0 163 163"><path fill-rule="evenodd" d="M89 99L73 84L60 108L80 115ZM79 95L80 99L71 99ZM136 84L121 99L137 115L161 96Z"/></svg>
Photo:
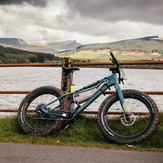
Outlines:
<svg viewBox="0 0 163 163"><path fill-rule="evenodd" d="M36 134L36 135L43 136L49 133L54 133L58 131L64 123L64 120L62 118L59 118L57 120L54 120L54 123L52 123L50 126L47 126L46 128L43 128L43 129L35 129L35 128L32 128L30 125L28 125L25 119L26 109L28 108L28 102L29 103L32 102L33 99L43 94L51 94L56 97L60 97L63 95L63 92L54 86L42 86L42 87L34 89L28 95L25 96L25 98L20 103L17 117L18 117L18 123L21 129L27 134ZM27 105L27 108L26 108L26 105ZM66 107L67 107L67 99L62 98L61 109L66 110Z"/></svg>

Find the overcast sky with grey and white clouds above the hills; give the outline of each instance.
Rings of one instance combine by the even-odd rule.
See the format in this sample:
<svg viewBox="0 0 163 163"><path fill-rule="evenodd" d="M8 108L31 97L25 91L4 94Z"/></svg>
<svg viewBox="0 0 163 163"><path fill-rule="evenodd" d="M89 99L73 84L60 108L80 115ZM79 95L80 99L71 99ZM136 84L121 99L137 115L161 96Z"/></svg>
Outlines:
<svg viewBox="0 0 163 163"><path fill-rule="evenodd" d="M0 37L82 44L159 35L163 0L0 0Z"/></svg>

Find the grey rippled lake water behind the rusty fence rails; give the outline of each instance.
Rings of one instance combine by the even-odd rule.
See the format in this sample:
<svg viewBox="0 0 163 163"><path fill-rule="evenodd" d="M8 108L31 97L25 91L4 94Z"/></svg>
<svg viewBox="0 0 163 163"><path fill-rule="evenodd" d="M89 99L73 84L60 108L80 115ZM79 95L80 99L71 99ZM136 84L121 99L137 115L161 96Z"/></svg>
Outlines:
<svg viewBox="0 0 163 163"><path fill-rule="evenodd" d="M141 91L163 91L163 70L123 69L125 72L122 89ZM1 67L0 91L30 91L44 85L61 87L60 67ZM74 73L74 88L79 89L110 75L108 68L80 68ZM111 89L114 90L114 87ZM0 94L1 109L17 109L25 94ZM106 95L107 96L107 95ZM163 111L163 95L150 95ZM98 110L105 96L100 96L87 110ZM1 113L2 114L2 113Z"/></svg>

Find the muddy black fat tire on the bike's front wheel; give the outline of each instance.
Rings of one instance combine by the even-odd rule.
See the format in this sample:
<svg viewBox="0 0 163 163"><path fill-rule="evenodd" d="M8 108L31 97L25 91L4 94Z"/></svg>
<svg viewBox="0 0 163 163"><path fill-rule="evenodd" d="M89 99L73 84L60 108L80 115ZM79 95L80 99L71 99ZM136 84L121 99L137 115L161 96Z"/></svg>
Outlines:
<svg viewBox="0 0 163 163"><path fill-rule="evenodd" d="M159 111L157 108L156 103L153 101L153 99L148 96L147 94L142 93L141 91L137 90L123 90L122 91L124 98L126 96L135 96L143 101L146 102L146 104L149 106L150 111L150 124L148 125L148 129L145 131L145 133L142 131L140 132L136 137L135 136L120 136L113 132L104 122L104 116L106 115L106 110L111 103L113 104L118 99L118 95L116 93L108 96L100 105L97 115L98 120L98 127L101 131L101 133L111 142L118 143L118 144L135 144L143 141L144 139L148 138L157 128L157 125L159 123ZM119 100L119 99L118 99ZM113 102L114 101L114 102Z"/></svg>

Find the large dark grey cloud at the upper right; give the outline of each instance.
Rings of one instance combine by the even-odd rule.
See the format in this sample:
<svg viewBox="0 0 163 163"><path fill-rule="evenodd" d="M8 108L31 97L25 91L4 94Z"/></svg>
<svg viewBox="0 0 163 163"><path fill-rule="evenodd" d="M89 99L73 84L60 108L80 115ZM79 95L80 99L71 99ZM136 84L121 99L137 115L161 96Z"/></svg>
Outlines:
<svg viewBox="0 0 163 163"><path fill-rule="evenodd" d="M72 11L98 20L163 24L162 0L67 0L67 4Z"/></svg>

